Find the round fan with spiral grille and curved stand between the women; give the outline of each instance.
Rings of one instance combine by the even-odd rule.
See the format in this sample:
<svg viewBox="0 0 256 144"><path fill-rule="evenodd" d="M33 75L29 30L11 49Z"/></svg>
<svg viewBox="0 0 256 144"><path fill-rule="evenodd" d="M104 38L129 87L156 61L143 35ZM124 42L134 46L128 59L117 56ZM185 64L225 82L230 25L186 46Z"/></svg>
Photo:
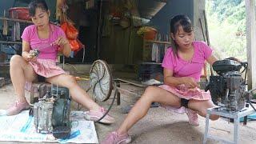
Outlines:
<svg viewBox="0 0 256 144"><path fill-rule="evenodd" d="M109 113L118 93L118 89L116 87L117 86L114 84L108 64L100 59L94 61L90 68L90 87L88 90L86 90L86 92L88 93L89 90L92 90L92 97L95 99L95 101L105 102L110 98L112 90L114 89L114 98L109 108L106 110L106 113L103 114L102 117L99 118L96 122L100 122L102 118L104 118L106 114ZM79 106L80 105L78 104L78 109Z"/></svg>

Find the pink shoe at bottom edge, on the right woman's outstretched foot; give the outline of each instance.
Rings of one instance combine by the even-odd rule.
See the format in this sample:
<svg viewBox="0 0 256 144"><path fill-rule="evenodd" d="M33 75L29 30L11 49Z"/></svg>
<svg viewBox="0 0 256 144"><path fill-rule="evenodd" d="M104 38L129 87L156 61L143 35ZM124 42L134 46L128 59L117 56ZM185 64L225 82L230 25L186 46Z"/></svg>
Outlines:
<svg viewBox="0 0 256 144"><path fill-rule="evenodd" d="M130 135L128 134L118 135L116 131L113 131L110 134L108 134L108 136L102 142L102 144L121 144L121 143L125 144L130 142L131 142Z"/></svg>

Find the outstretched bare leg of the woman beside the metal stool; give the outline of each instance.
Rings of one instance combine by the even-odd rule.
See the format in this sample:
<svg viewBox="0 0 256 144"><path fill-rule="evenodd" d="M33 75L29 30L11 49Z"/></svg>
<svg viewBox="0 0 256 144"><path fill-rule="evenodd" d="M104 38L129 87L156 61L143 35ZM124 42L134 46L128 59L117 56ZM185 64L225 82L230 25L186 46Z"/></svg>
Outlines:
<svg viewBox="0 0 256 144"><path fill-rule="evenodd" d="M138 120L146 115L152 102L160 102L177 108L181 106L180 98L174 94L156 86L149 86L130 110L124 122L122 122L122 125L117 130L118 134L126 134Z"/></svg>

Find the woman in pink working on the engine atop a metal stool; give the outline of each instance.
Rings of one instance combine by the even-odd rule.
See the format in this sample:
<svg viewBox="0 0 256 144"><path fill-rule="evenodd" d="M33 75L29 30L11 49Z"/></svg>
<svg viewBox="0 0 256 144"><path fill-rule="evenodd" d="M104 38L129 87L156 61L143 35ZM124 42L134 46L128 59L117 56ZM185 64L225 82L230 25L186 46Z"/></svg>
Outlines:
<svg viewBox="0 0 256 144"><path fill-rule="evenodd" d="M128 130L143 118L152 102L159 102L168 110L186 112L189 123L198 126L198 115L206 117L206 110L214 107L210 92L198 89L198 83L204 62L212 65L217 59L204 42L194 42L190 19L177 15L170 21L172 44L162 62L164 67L164 85L149 86L142 97L130 110L118 130L110 133L104 144L128 143L131 141ZM212 120L217 115L210 115Z"/></svg>

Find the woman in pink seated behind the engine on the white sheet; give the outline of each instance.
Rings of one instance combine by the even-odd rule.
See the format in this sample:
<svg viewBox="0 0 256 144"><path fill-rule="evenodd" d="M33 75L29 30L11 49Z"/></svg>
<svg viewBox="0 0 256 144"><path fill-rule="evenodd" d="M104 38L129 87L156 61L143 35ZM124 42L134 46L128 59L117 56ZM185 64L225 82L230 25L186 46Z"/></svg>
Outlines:
<svg viewBox="0 0 256 144"><path fill-rule="evenodd" d="M66 74L56 66L56 57L61 52L70 56L70 44L62 29L50 24L50 10L44 0L34 0L29 5L30 16L34 25L27 26L22 34L22 56L14 55L10 60L10 78L18 96L17 101L6 110L7 115L14 115L30 107L25 98L25 83L46 81L58 86L67 87L75 102L88 108L88 118L96 121L105 114L105 109L98 106L76 82L75 78ZM33 49L40 51L34 57ZM113 123L114 118L107 115L103 123Z"/></svg>

